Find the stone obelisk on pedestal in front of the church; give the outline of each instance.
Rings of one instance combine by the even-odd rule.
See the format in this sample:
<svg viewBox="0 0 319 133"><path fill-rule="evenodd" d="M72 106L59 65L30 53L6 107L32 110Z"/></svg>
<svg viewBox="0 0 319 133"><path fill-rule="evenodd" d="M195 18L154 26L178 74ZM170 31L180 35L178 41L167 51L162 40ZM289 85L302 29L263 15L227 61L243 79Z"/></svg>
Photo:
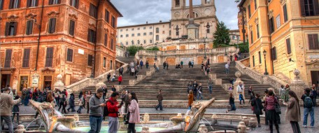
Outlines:
<svg viewBox="0 0 319 133"><path fill-rule="evenodd" d="M192 0L190 0L190 19L189 19L188 25L186 25L186 27L187 27L188 39L198 38L199 25L194 23L194 13L193 13L193 9L192 9Z"/></svg>

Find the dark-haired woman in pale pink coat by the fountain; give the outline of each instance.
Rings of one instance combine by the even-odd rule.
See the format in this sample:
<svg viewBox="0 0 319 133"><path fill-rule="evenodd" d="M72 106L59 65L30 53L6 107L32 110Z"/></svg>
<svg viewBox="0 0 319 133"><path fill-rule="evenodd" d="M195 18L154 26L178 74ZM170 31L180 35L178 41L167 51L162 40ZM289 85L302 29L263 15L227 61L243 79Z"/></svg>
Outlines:
<svg viewBox="0 0 319 133"><path fill-rule="evenodd" d="M135 123L140 122L139 104L135 92L129 93L129 99L131 99L131 102L129 103L129 113L127 114L129 116L127 133L135 133Z"/></svg>

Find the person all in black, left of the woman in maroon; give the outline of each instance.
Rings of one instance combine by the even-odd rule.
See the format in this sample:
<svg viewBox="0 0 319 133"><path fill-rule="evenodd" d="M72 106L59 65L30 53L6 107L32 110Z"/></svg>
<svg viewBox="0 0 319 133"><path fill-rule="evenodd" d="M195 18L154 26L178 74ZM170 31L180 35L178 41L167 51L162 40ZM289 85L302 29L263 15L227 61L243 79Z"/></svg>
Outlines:
<svg viewBox="0 0 319 133"><path fill-rule="evenodd" d="M262 99L260 99L260 94L255 94L255 97L251 100L251 106L253 106L253 111L256 114L258 127L261 127L260 125L260 115L262 115L262 109L264 109L264 106L262 106Z"/></svg>

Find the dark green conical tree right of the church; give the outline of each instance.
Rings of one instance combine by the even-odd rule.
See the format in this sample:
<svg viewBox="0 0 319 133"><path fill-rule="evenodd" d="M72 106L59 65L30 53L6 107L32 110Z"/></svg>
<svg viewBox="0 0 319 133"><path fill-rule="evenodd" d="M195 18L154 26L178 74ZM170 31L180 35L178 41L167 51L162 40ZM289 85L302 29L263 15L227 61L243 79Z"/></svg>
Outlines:
<svg viewBox="0 0 319 133"><path fill-rule="evenodd" d="M229 45L229 29L224 22L218 22L217 29L214 33L215 40L213 41L214 45L226 44Z"/></svg>

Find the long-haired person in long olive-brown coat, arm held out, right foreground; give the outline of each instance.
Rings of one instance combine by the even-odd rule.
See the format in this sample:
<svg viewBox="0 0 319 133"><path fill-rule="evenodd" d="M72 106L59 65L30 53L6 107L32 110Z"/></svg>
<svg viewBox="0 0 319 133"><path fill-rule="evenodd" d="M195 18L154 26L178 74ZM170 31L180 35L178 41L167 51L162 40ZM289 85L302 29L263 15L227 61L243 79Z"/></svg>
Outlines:
<svg viewBox="0 0 319 133"><path fill-rule="evenodd" d="M297 97L297 94L292 90L290 90L288 94L290 96L288 103L283 103L285 106L287 106L287 111L285 112L285 119L287 122L290 122L292 131L294 133L301 133L298 123L302 119L302 115L300 113L299 99Z"/></svg>

